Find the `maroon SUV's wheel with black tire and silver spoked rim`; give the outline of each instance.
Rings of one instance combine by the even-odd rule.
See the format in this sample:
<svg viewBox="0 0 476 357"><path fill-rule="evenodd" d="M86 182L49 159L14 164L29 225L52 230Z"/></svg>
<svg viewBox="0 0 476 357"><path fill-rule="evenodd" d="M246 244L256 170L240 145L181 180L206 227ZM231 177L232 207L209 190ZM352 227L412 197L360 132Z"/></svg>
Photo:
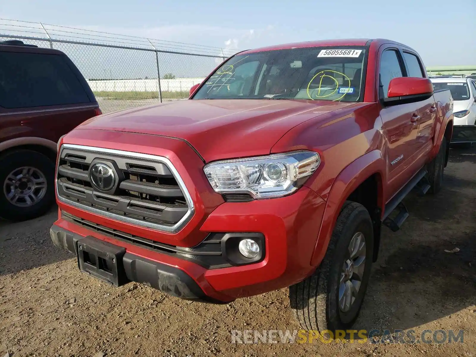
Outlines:
<svg viewBox="0 0 476 357"><path fill-rule="evenodd" d="M0 217L23 221L45 214L54 202L54 163L31 150L0 159Z"/></svg>

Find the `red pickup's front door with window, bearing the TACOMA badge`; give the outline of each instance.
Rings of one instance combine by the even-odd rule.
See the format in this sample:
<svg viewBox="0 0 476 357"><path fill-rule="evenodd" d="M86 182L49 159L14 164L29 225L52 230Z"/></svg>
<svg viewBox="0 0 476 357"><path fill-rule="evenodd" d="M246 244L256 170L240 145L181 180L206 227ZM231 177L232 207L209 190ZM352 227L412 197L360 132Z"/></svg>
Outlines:
<svg viewBox="0 0 476 357"><path fill-rule="evenodd" d="M406 68L398 48L380 50L378 72L379 99L387 98L390 80L406 76ZM381 107L380 116L387 137L387 177L389 199L413 176L417 148L418 103Z"/></svg>

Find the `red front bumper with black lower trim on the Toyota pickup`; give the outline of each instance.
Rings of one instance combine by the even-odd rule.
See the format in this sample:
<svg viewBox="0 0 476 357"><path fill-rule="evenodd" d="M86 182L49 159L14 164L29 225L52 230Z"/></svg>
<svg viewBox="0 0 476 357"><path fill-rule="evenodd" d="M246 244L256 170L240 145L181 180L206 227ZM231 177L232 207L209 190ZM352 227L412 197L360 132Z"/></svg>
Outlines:
<svg viewBox="0 0 476 357"><path fill-rule="evenodd" d="M307 187L283 198L221 204L208 215L200 232L257 232L265 237L266 247L259 262L227 268L209 269L183 257L139 247L79 226L61 214L51 228L51 238L56 246L75 254L76 242L84 237L122 247L126 281L180 298L227 303L286 288L312 274L315 267L310 261L324 208L322 198ZM77 216L82 213L64 205L61 209ZM102 217L97 220L105 222Z"/></svg>

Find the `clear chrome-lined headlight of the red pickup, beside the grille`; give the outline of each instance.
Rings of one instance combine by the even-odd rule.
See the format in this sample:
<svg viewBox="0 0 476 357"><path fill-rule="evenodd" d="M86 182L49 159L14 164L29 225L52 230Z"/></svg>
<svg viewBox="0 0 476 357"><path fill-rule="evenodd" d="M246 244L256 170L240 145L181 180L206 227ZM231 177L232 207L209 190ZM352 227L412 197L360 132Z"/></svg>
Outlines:
<svg viewBox="0 0 476 357"><path fill-rule="evenodd" d="M297 190L319 164L317 152L300 150L212 162L204 171L218 193L249 192L253 198L273 198Z"/></svg>

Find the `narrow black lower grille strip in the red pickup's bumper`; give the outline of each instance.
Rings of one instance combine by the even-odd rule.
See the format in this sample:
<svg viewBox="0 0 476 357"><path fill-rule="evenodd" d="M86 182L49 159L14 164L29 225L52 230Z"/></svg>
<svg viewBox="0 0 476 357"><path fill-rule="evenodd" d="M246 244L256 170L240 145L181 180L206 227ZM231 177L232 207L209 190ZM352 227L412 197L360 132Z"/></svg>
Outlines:
<svg viewBox="0 0 476 357"><path fill-rule="evenodd" d="M193 248L183 248L159 243L117 229L105 227L89 220L73 216L64 211L61 212L61 218L86 229L98 232L104 236L115 238L140 248L154 250L170 256L189 260L204 268L215 269L231 267L231 264L226 260L222 253L221 238L223 238L224 233L210 233L207 238L197 246Z"/></svg>

